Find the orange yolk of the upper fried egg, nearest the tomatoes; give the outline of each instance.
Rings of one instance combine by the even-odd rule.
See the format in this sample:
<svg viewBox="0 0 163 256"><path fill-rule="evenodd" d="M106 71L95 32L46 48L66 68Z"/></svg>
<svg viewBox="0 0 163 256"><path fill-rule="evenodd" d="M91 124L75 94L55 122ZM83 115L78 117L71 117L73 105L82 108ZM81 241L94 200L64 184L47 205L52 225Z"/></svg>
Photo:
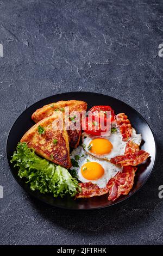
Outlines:
<svg viewBox="0 0 163 256"><path fill-rule="evenodd" d="M96 155L106 155L112 150L112 144L108 139L97 138L90 142L90 152Z"/></svg>

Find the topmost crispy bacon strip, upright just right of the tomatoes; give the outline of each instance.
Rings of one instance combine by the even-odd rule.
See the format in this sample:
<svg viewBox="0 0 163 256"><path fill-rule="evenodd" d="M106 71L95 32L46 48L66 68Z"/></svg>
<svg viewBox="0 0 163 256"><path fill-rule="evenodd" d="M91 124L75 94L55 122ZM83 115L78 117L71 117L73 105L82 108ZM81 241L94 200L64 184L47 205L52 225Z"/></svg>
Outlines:
<svg viewBox="0 0 163 256"><path fill-rule="evenodd" d="M127 115L124 113L117 114L116 122L118 127L120 128L123 141L127 141L128 138L130 138L132 135L132 127Z"/></svg>

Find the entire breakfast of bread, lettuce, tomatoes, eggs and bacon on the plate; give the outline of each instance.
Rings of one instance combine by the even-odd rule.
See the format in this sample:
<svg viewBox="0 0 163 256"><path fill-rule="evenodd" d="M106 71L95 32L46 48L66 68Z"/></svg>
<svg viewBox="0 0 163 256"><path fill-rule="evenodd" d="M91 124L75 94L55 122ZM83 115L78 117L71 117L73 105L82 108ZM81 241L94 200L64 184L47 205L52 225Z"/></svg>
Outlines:
<svg viewBox="0 0 163 256"><path fill-rule="evenodd" d="M56 119L65 121L65 107L69 107L69 121L76 122L71 113L78 111L80 117L87 103L59 101L33 113L36 124L22 137L11 160L17 162L18 175L26 177L32 190L51 192L54 197L70 194L77 199L108 194L108 200L114 201L128 194L137 165L149 157L140 149L141 134L136 133L126 114L115 115L110 106L92 107L78 130L66 130L66 126L54 130ZM107 125L111 126L110 132ZM70 148L74 148L71 153Z"/></svg>

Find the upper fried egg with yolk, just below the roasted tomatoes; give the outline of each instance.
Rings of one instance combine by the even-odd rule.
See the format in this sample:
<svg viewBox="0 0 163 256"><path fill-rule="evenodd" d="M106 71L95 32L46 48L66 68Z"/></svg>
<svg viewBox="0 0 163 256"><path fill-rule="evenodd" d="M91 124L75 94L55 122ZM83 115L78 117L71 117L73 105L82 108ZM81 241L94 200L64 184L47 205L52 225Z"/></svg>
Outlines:
<svg viewBox="0 0 163 256"><path fill-rule="evenodd" d="M132 136L134 143L140 145L141 134L136 134L133 129ZM111 133L108 137L98 137L82 133L82 142L85 151L98 159L110 160L112 157L124 155L127 142L122 140L122 135L118 131Z"/></svg>

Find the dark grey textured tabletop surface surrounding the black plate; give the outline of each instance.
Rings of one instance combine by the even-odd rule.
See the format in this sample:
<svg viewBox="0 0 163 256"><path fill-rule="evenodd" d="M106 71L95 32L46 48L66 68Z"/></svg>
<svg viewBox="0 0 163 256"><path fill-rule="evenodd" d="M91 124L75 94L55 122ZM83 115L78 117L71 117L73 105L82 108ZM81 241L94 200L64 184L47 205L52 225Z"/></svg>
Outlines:
<svg viewBox="0 0 163 256"><path fill-rule="evenodd" d="M162 1L0 0L0 243L162 244ZM99 92L146 118L158 142L147 184L112 208L73 212L31 198L5 159L11 125L32 103L71 91Z"/></svg>

